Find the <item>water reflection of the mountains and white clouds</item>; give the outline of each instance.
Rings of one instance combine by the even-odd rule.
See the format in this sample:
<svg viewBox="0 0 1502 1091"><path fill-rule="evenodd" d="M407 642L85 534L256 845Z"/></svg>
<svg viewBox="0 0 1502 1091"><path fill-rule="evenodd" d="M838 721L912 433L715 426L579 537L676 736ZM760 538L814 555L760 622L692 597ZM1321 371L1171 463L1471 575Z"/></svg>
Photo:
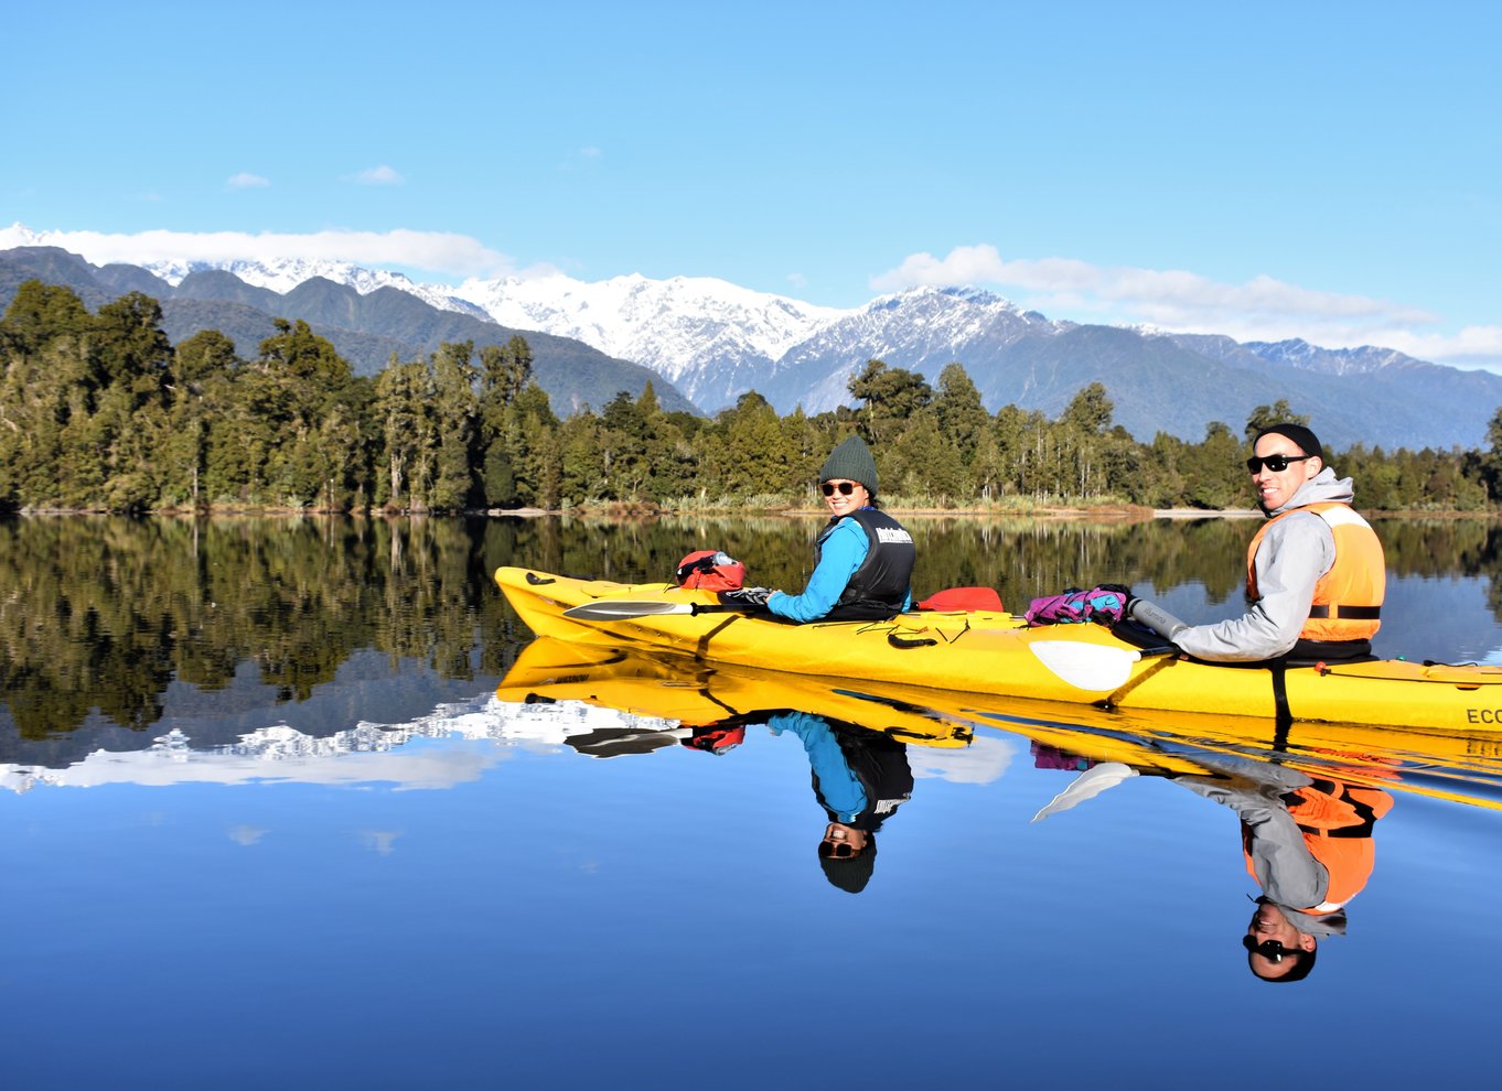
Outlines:
<svg viewBox="0 0 1502 1091"><path fill-rule="evenodd" d="M665 716L568 698L539 699L535 693L505 695L505 689L475 696L475 683L407 666L391 672L385 657L357 656L335 683L294 707L267 701L267 686L251 671L242 671L224 690L170 687L159 734L90 723L32 743L11 732L8 752L0 755L0 786L17 792L113 783L449 788L482 776L517 749L613 758L674 747L692 734L680 717L689 710L677 705L665 711L680 716ZM919 728L907 737L924 741L922 713L907 714ZM919 747L912 762L918 777L984 783L997 779L1015 752L1002 738L955 747L949 728L936 731L930 741L939 749ZM38 753L44 749L48 761Z"/></svg>

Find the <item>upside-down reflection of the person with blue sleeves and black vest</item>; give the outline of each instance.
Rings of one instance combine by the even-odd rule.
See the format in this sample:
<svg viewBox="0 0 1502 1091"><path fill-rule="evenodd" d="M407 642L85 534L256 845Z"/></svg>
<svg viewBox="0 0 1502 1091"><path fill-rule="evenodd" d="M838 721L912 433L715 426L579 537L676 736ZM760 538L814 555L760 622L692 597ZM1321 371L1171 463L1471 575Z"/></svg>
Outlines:
<svg viewBox="0 0 1502 1091"><path fill-rule="evenodd" d="M774 713L766 723L774 734L790 731L802 740L814 795L829 818L819 863L829 882L859 894L876 867L876 831L913 792L907 747L813 713Z"/></svg>

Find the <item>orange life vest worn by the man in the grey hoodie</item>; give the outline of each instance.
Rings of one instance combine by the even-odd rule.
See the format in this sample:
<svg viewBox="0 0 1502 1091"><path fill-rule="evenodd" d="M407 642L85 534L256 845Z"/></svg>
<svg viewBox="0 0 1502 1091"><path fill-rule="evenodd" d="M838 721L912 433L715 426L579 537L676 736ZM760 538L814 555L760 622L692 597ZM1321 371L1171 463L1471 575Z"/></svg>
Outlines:
<svg viewBox="0 0 1502 1091"><path fill-rule="evenodd" d="M1295 512L1313 512L1335 537L1335 563L1314 584L1310 617L1299 630L1305 641L1367 641L1377 627L1377 612L1386 593L1388 566L1382 542L1371 525L1349 504L1322 501L1284 512L1259 530L1247 548L1247 597L1257 600L1257 549L1262 537L1278 519Z"/></svg>

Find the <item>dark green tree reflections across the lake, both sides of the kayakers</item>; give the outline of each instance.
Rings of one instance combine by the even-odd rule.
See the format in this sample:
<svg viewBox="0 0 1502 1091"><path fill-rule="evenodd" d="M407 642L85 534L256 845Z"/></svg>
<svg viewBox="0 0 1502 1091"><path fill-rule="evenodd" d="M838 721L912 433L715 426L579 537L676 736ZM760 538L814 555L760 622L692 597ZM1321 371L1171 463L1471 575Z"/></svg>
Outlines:
<svg viewBox="0 0 1502 1091"><path fill-rule="evenodd" d="M987 585L1021 608L1101 581L1160 591L1242 582L1248 519L1071 522L909 518L915 590ZM354 651L448 678L502 674L530 632L491 582L524 564L622 582L667 581L698 548L746 561L753 582L801 587L817 518L213 519L0 522L0 695L29 738L92 713L134 729L161 719L174 678L221 689L251 665L279 701L303 701ZM1400 575L1494 573L1499 527L1385 521ZM1502 590L1493 578L1493 609Z"/></svg>

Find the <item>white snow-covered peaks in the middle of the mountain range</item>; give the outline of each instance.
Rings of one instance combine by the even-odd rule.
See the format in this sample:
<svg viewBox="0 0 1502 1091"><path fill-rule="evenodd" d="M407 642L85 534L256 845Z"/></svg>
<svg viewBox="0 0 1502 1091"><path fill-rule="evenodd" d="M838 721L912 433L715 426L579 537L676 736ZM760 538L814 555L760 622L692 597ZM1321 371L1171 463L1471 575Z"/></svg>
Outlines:
<svg viewBox="0 0 1502 1091"><path fill-rule="evenodd" d="M913 288L855 309L826 308L740 288L715 278L616 276L577 281L469 279L457 288L416 284L400 273L335 261L150 263L168 284L218 269L246 284L287 293L315 276L360 294L397 288L428 305L520 330L583 341L607 356L646 365L700 408L734 405L757 390L774 405L810 413L849 401L847 384L868 359L946 362L969 347L997 348L1024 333L1071 329L975 288ZM894 323L901 317L900 323ZM840 360L832 369L826 360Z"/></svg>

